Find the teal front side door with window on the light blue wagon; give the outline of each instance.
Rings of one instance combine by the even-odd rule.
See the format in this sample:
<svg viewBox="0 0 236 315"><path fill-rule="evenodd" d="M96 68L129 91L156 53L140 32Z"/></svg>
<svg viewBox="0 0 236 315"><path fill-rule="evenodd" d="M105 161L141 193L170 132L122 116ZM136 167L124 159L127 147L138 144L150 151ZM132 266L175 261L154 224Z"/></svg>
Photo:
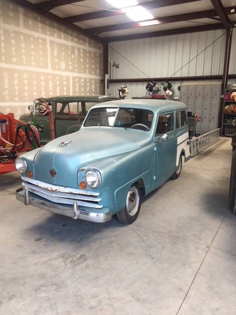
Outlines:
<svg viewBox="0 0 236 315"><path fill-rule="evenodd" d="M166 141L160 136L167 134ZM154 136L154 186L165 183L175 172L177 139L174 126L174 111L161 113L158 117Z"/></svg>

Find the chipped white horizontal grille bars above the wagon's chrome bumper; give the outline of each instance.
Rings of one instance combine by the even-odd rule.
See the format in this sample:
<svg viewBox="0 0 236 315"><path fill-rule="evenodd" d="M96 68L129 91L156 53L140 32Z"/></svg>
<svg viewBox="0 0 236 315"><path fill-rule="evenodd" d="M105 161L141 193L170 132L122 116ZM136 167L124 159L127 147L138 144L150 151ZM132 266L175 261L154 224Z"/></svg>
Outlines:
<svg viewBox="0 0 236 315"><path fill-rule="evenodd" d="M22 180L24 189L52 202L69 205L76 202L78 207L102 208L102 205L98 204L101 201L98 192L56 186L28 177L22 177Z"/></svg>

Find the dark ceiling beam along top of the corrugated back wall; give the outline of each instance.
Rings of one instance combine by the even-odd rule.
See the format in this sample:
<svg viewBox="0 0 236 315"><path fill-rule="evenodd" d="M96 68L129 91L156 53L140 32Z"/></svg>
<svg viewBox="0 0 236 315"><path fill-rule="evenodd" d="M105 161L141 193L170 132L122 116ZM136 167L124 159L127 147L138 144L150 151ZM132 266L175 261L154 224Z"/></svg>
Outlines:
<svg viewBox="0 0 236 315"><path fill-rule="evenodd" d="M169 36L169 35L178 35L185 33L195 33L195 32L206 32L212 30L222 30L224 29L224 25L222 23L217 24L207 24L203 26L194 26L188 28L180 28L159 32L148 32L148 33L140 33L140 34L132 34L132 35L121 35L103 38L104 42L115 42L115 41L123 41L123 40L131 40L131 39L141 39L141 38L150 38L150 37L160 37L160 36Z"/></svg>

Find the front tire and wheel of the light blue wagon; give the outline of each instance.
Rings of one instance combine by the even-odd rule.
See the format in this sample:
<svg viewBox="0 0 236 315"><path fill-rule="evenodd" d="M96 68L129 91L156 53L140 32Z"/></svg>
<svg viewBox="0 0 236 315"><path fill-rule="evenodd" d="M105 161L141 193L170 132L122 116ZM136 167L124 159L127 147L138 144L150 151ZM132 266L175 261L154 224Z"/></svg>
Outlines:
<svg viewBox="0 0 236 315"><path fill-rule="evenodd" d="M135 199L131 201L132 199ZM127 196L126 196L126 202L125 207L117 213L117 218L120 222L125 224L131 224L133 223L139 215L141 207L141 193L140 189L138 189L137 186L130 187Z"/></svg>

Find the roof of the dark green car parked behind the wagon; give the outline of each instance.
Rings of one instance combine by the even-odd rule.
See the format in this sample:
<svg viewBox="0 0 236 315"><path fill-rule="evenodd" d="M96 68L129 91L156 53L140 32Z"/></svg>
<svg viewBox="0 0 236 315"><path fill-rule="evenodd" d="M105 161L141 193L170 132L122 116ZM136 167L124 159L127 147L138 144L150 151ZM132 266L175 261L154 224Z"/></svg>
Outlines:
<svg viewBox="0 0 236 315"><path fill-rule="evenodd" d="M45 100L47 102L50 101L91 101L91 102L99 102L104 99L119 99L117 96L109 96L109 95L60 95L60 96L51 96L47 97Z"/></svg>

